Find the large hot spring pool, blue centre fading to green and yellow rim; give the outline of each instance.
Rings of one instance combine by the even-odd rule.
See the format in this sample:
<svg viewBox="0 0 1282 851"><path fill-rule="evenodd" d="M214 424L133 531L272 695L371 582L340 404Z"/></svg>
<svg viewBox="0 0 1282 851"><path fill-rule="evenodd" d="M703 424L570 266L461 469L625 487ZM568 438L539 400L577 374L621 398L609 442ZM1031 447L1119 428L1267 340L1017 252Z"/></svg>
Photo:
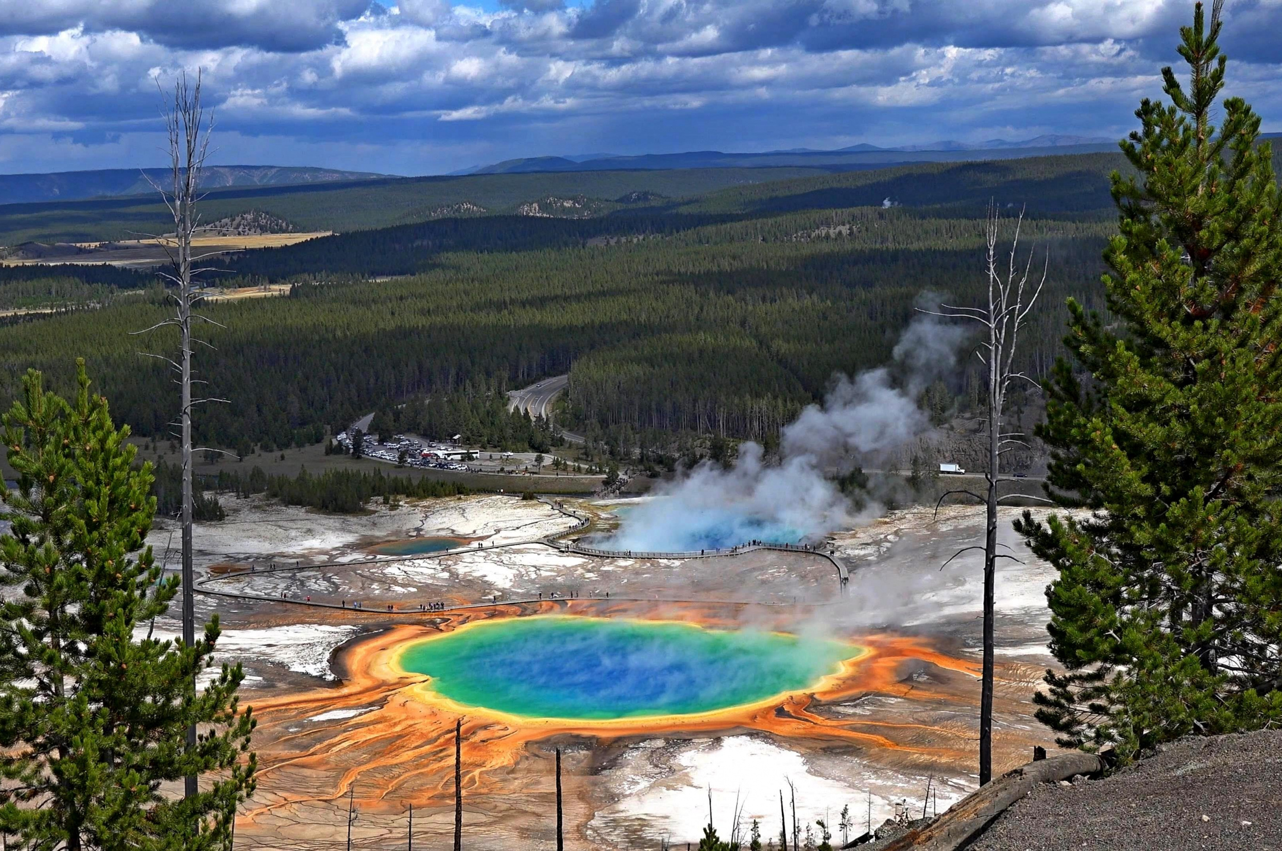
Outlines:
<svg viewBox="0 0 1282 851"><path fill-rule="evenodd" d="M813 687L859 647L694 624L536 616L406 645L405 670L464 706L526 718L692 715Z"/></svg>

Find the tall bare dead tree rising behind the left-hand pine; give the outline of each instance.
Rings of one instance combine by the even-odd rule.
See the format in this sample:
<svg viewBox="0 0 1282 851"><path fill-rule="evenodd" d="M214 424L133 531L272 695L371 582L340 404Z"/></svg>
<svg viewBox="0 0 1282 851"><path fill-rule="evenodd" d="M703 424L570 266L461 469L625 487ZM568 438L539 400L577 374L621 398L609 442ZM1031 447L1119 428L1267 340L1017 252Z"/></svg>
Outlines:
<svg viewBox="0 0 1282 851"><path fill-rule="evenodd" d="M196 609L194 596L194 574L191 566L192 552L192 458L191 446L191 413L196 405L208 401L226 401L213 399L194 399L192 384L204 383L192 378L191 355L192 346L205 343L192 336L194 322L209 322L212 319L196 313L195 308L204 297L196 285L196 276L206 269L199 268L203 259L192 252L192 237L200 227L200 217L196 213L196 204L200 200L200 176L205 168L205 158L209 154L209 136L213 122L206 120L205 112L200 105L200 72L192 83L187 73L179 72L173 87L173 101L164 110L165 131L169 144L169 178L168 183L151 181L151 186L160 192L169 214L173 217L173 233L151 235L169 256L169 272L160 272L168 285L168 295L174 301L173 317L159 322L150 328L135 333L149 333L158 328L176 327L178 329L178 358L168 358L151 352L142 352L149 358L159 358L169 364L174 372L174 382L179 386L181 402L176 426L179 429L177 437L182 442L182 641L188 647L196 643ZM159 87L159 81L156 86ZM162 92L163 95L163 92ZM196 727L187 728L187 747L196 746ZM185 793L187 797L196 795L199 784L195 775L187 777Z"/></svg>

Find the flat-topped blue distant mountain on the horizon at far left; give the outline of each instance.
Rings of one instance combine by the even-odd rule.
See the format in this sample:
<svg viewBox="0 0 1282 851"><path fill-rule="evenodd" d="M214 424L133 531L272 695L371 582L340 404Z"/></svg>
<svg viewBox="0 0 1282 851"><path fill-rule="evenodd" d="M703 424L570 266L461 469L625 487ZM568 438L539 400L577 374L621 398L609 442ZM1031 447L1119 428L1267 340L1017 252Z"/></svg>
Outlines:
<svg viewBox="0 0 1282 851"><path fill-rule="evenodd" d="M53 172L50 174L0 174L0 204L40 201L78 201L91 197L117 197L155 192L147 178L164 183L163 168L109 168L96 172ZM391 177L370 172L344 172L333 168L294 165L209 165L201 179L205 188L226 186L291 186L331 183Z"/></svg>

